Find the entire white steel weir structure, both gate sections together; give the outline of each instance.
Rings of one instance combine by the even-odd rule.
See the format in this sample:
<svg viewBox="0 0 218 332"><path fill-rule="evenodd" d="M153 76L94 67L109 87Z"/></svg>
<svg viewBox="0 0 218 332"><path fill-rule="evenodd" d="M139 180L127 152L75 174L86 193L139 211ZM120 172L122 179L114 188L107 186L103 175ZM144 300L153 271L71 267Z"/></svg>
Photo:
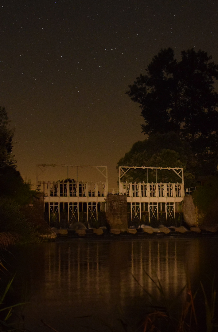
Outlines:
<svg viewBox="0 0 218 332"><path fill-rule="evenodd" d="M65 167L66 179L62 181L38 181L46 167ZM75 179L69 178L69 170L76 169ZM104 181L78 181L78 170L95 169ZM172 167L119 167L119 192L109 193L107 166L46 165L36 167L38 190L44 193L44 207L48 222L60 222L60 214L67 216L66 223L82 221L88 227L106 222L107 216L116 215L117 223L123 212L118 211L122 196L127 203L128 226L139 226L156 220L176 220L182 212L184 198L183 168ZM137 179L133 182L132 179ZM114 198L111 198L111 195ZM115 199L115 196L117 199ZM119 199L120 197L120 199ZM112 207L112 201L113 207ZM115 202L117 201L117 203ZM122 199L123 201L123 199ZM125 204L126 204L125 203ZM124 204L124 203L123 203ZM110 206L110 207L109 207ZM111 210L111 211L110 211ZM120 216L119 216L120 214Z"/></svg>

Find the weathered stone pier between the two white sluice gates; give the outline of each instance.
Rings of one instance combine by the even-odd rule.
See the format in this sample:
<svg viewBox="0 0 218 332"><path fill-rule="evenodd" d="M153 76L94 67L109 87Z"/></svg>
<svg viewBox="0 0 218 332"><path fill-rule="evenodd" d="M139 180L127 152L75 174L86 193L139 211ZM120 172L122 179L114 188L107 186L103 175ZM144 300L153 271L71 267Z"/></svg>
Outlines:
<svg viewBox="0 0 218 332"><path fill-rule="evenodd" d="M127 229L127 201L125 195L108 195L106 218L110 228Z"/></svg>

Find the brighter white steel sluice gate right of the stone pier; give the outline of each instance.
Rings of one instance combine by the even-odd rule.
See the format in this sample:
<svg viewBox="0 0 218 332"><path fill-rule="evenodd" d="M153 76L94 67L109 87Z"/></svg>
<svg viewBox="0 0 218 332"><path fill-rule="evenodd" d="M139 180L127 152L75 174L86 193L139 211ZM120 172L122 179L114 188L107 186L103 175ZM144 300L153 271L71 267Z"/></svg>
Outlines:
<svg viewBox="0 0 218 332"><path fill-rule="evenodd" d="M123 181L132 177L138 182ZM182 212L183 168L120 166L119 194L126 195L131 223L176 219L176 213Z"/></svg>

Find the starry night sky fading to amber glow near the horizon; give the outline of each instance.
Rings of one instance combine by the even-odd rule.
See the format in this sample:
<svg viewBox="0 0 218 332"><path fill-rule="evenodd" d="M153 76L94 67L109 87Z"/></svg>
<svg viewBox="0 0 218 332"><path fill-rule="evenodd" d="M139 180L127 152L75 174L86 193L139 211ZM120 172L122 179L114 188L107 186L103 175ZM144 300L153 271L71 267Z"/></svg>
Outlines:
<svg viewBox="0 0 218 332"><path fill-rule="evenodd" d="M118 160L145 139L128 85L161 48L218 63L217 1L1 0L0 11L0 105L33 184L36 164L104 165L116 188Z"/></svg>

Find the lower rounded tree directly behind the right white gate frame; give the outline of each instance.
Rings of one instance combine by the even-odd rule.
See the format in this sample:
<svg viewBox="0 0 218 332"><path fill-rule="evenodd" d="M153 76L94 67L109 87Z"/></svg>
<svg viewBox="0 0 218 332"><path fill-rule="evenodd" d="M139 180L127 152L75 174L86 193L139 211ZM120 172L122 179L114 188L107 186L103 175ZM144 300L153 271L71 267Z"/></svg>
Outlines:
<svg viewBox="0 0 218 332"><path fill-rule="evenodd" d="M173 131L157 133L144 141L134 143L130 151L118 161L117 169L119 166L182 167L185 186L191 187L195 181L192 174L195 164L192 162L191 150ZM146 182L146 174L140 169L130 170L122 181ZM178 182L178 178L172 178L172 173L162 170L158 175L158 182Z"/></svg>

